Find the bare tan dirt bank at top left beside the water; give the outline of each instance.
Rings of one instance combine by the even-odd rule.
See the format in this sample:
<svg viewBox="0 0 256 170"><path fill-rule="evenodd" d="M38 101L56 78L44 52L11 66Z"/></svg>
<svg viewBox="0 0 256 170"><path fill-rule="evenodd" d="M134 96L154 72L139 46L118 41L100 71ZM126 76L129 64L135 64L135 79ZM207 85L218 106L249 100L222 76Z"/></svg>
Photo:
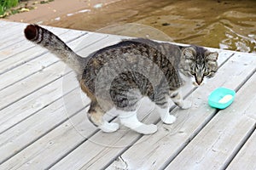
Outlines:
<svg viewBox="0 0 256 170"><path fill-rule="evenodd" d="M10 15L2 20L50 25L50 23L60 20L61 17L102 8L118 1L120 0L54 0L41 4L38 0L29 0L28 6L35 7L34 9L29 12Z"/></svg>

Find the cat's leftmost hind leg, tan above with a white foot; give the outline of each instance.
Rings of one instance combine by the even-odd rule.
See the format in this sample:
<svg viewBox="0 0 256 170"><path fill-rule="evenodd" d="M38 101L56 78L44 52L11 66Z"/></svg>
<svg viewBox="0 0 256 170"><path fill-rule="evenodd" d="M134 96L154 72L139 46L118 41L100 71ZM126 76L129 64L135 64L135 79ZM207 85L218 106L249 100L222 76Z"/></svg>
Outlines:
<svg viewBox="0 0 256 170"><path fill-rule="evenodd" d="M103 119L105 112L97 102L90 103L88 118L96 127L99 127L104 133L113 133L119 129L119 123L107 122Z"/></svg>

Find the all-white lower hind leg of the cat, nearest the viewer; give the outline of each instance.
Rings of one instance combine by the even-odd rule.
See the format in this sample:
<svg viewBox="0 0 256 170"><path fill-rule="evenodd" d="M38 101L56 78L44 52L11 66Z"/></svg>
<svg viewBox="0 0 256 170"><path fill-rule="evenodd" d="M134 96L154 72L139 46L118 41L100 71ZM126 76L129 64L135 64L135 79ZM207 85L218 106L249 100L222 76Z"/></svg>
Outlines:
<svg viewBox="0 0 256 170"><path fill-rule="evenodd" d="M119 110L119 120L125 126L129 127L137 133L152 134L157 131L154 124L144 124L137 119L137 111L121 111Z"/></svg>

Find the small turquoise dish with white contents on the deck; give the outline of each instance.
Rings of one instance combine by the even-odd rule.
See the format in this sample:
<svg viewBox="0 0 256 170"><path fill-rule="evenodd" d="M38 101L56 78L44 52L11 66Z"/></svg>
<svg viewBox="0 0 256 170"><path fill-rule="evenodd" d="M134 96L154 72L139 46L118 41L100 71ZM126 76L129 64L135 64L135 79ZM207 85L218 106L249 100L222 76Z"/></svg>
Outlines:
<svg viewBox="0 0 256 170"><path fill-rule="evenodd" d="M235 99L236 92L229 88L216 88L208 97L208 104L214 108L225 109Z"/></svg>

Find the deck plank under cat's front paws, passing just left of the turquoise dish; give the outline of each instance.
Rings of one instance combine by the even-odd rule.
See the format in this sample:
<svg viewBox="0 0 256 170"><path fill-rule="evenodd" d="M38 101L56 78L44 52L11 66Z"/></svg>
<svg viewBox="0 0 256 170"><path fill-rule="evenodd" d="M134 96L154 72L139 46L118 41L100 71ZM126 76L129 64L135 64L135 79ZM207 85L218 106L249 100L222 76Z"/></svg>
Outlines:
<svg viewBox="0 0 256 170"><path fill-rule="evenodd" d="M210 94L214 88L219 86L239 87L247 76L252 74L255 63L256 58L253 56L241 57L239 53L235 54L219 69L216 77L189 95L189 99L193 101L192 108L172 111L173 114L177 115L177 122L171 126L166 126L160 122L157 133L152 137L143 136L121 155L128 167L131 169L158 169L172 160L214 116L215 110L207 105L206 94ZM166 150L168 150L167 153ZM116 153L112 153L108 156L113 157L115 155ZM112 166L115 166L114 163L109 168Z"/></svg>

